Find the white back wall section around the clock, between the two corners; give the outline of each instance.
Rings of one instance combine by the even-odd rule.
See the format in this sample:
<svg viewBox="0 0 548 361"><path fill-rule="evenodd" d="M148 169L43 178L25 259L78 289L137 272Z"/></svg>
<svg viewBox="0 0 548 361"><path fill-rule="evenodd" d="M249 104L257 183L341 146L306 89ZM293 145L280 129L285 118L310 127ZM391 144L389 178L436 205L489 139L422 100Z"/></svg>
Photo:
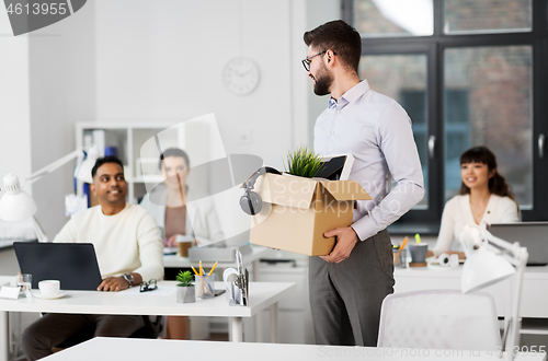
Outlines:
<svg viewBox="0 0 548 361"><path fill-rule="evenodd" d="M252 153L282 166L286 151L308 136L301 130L294 139L293 130L294 117L306 112L305 94L293 91L306 81L293 77L301 55L294 44L304 47L293 32L294 22L305 23L302 4L98 1L98 118L180 121L215 113L227 153ZM259 88L248 96L222 84L222 69L237 56L260 67ZM241 144L246 129L252 140Z"/></svg>

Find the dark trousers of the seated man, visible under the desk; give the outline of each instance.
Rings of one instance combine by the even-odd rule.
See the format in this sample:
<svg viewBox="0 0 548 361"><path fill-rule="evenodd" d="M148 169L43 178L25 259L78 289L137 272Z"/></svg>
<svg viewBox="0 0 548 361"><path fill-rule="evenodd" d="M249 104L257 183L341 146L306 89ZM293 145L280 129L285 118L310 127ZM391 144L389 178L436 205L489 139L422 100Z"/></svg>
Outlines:
<svg viewBox="0 0 548 361"><path fill-rule="evenodd" d="M48 313L26 327L21 337L23 352L28 361L52 354L73 334L95 327L94 336L128 337L145 327L142 316L134 315L78 315Z"/></svg>

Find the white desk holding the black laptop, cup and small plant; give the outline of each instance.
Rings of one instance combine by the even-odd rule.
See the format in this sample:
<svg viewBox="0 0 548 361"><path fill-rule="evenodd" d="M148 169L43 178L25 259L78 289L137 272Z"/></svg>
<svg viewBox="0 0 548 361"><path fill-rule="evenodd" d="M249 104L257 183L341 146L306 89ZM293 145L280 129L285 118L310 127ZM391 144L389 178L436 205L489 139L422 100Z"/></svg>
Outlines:
<svg viewBox="0 0 548 361"><path fill-rule="evenodd" d="M174 281L162 281L159 286L175 287ZM215 282L224 289L224 282ZM0 354L1 361L9 358L8 312L83 313L112 315L165 315L165 316L218 316L232 319L233 341L242 341L242 317L251 317L262 310L271 311L271 341L277 342L277 302L295 289L290 282L251 282L249 306L229 306L225 294L213 300L195 303L176 303L175 294L155 296L153 292L135 296L122 292L68 291L58 300L5 300L0 299Z"/></svg>

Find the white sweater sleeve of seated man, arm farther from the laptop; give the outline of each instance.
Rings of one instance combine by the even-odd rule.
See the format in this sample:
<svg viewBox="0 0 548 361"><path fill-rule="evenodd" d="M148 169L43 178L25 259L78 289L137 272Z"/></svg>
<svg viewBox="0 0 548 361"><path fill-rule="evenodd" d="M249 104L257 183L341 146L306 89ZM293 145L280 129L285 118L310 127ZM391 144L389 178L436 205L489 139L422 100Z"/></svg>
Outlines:
<svg viewBox="0 0 548 361"><path fill-rule="evenodd" d="M155 219L144 214L137 230L140 267L134 270L144 281L160 280L163 277L163 244Z"/></svg>

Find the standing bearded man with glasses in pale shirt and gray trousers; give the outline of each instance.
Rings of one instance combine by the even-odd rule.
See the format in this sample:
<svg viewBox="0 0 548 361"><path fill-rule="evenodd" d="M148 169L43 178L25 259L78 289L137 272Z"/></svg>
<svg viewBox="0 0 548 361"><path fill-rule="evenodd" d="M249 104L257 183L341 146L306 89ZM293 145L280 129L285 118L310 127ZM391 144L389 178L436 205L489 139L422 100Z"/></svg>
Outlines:
<svg viewBox="0 0 548 361"><path fill-rule="evenodd" d="M343 21L306 32L302 60L317 95L331 94L315 126L320 155L351 153L350 178L373 200L358 201L354 223L324 233L336 243L310 257L309 287L318 345L376 346L380 305L393 292L393 256L386 228L424 195L411 120L392 98L374 92L357 71L362 38ZM387 194L389 175L396 187Z"/></svg>

